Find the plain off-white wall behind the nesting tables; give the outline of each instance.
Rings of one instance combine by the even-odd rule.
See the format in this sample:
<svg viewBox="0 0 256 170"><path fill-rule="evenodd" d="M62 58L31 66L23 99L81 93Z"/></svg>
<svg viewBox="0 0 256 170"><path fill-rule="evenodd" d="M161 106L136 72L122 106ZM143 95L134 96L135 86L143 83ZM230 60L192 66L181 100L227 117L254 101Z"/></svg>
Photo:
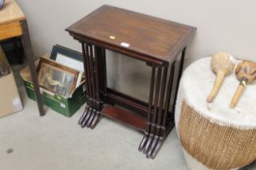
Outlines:
<svg viewBox="0 0 256 170"><path fill-rule="evenodd" d="M254 0L17 0L28 19L34 53L50 53L54 44L80 51L65 28L103 4L169 19L197 27L185 66L219 51L256 61L256 1ZM118 23L117 23L118 24ZM114 64L113 64L114 63ZM115 66L115 67L113 67ZM134 66L140 70L132 69ZM126 57L108 61L111 87L132 96L147 97L150 74L143 63ZM117 70L119 73L113 74ZM120 83L119 80L126 80ZM137 83L130 83L135 80ZM144 88L145 87L145 88Z"/></svg>

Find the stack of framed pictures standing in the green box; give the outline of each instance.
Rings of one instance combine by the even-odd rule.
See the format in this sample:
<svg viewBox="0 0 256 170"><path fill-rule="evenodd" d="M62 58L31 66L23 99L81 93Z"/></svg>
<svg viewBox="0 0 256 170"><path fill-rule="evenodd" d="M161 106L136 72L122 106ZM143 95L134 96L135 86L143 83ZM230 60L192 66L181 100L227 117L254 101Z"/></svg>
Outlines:
<svg viewBox="0 0 256 170"><path fill-rule="evenodd" d="M40 87L68 98L85 82L84 65L80 53L54 45L50 59L41 57L38 70Z"/></svg>

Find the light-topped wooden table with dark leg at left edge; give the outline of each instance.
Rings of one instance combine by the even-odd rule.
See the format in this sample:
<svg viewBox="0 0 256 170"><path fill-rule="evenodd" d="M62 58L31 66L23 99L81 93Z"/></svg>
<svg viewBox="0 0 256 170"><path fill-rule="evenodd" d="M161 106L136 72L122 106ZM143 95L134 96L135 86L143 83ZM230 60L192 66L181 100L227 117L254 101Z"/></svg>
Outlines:
<svg viewBox="0 0 256 170"><path fill-rule="evenodd" d="M20 37L22 40L24 53L28 58L28 66L33 79L39 113L40 116L44 116L45 110L37 82L37 71L33 61L33 50L28 32L27 19L15 0L7 0L0 10L0 41L13 37Z"/></svg>

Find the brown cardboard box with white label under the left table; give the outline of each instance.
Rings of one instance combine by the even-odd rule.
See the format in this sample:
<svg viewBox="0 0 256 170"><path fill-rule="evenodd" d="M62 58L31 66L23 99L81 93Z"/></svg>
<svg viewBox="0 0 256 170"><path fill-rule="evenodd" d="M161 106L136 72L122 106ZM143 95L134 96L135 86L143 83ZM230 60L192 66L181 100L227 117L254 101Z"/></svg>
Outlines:
<svg viewBox="0 0 256 170"><path fill-rule="evenodd" d="M20 101L13 73L11 72L11 68L7 68L10 66L1 48L0 58L0 67L2 73L5 73L0 76L0 117L5 117L11 113L23 110L23 106Z"/></svg>

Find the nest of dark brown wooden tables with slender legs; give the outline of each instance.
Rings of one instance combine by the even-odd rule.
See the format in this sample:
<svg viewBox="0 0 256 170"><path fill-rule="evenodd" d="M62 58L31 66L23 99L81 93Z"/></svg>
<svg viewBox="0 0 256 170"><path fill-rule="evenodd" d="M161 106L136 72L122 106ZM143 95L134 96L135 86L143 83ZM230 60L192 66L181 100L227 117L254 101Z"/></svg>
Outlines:
<svg viewBox="0 0 256 170"><path fill-rule="evenodd" d="M174 126L185 49L195 30L113 6L102 6L67 28L80 41L84 55L89 102L79 125L93 129L102 116L130 125L144 132L139 150L147 158L154 158ZM106 49L141 60L152 68L149 103L106 86ZM179 64L176 61L180 53Z"/></svg>

